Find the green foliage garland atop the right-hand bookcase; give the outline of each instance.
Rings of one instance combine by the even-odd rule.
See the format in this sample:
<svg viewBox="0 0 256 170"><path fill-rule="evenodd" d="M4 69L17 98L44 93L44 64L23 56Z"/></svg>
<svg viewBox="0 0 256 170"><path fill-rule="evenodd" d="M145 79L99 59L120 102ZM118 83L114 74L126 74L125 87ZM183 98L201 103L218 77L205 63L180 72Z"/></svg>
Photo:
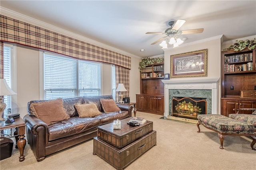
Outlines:
<svg viewBox="0 0 256 170"><path fill-rule="evenodd" d="M236 43L230 45L228 48L225 48L224 51L232 49L234 49L234 51L242 51L245 48L254 49L255 47L256 38L254 38L254 40L236 40Z"/></svg>

